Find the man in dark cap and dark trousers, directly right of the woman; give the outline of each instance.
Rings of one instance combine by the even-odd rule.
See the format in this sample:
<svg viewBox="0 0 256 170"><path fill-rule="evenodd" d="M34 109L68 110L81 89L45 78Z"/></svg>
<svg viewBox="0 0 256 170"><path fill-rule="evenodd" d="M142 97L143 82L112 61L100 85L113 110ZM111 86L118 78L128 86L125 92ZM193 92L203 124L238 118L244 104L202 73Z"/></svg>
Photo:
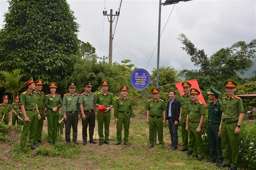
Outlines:
<svg viewBox="0 0 256 170"><path fill-rule="evenodd" d="M77 125L80 119L80 106L79 106L79 94L75 93L77 84L70 82L68 84L69 93L63 97L62 112L65 120L65 140L66 143L70 143L70 128L73 129L73 142L77 142Z"/></svg>

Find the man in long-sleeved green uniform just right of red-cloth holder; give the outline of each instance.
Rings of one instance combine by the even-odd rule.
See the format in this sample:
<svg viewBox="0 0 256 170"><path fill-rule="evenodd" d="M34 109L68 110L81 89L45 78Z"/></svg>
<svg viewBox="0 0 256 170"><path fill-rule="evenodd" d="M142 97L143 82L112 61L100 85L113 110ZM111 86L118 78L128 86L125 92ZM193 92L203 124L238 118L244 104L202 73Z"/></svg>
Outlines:
<svg viewBox="0 0 256 170"><path fill-rule="evenodd" d="M128 143L129 138L129 128L130 122L133 120L133 105L132 99L127 97L128 94L128 87L122 86L121 90L121 97L116 98L115 100L115 122L116 122L116 139L117 142L115 145L119 145L122 142L122 129L124 125L124 144L126 146L130 146Z"/></svg>

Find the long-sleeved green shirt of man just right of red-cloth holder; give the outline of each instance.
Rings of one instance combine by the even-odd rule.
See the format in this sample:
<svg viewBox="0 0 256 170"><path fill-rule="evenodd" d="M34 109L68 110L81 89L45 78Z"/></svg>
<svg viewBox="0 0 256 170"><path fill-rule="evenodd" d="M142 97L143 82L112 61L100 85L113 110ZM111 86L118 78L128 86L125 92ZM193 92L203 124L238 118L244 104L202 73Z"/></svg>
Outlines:
<svg viewBox="0 0 256 170"><path fill-rule="evenodd" d="M132 99L130 97L126 97L126 99L124 99L123 97L118 97L115 100L115 110L114 110L115 119L117 118L119 111L130 112L130 117L133 118L134 115L133 115Z"/></svg>

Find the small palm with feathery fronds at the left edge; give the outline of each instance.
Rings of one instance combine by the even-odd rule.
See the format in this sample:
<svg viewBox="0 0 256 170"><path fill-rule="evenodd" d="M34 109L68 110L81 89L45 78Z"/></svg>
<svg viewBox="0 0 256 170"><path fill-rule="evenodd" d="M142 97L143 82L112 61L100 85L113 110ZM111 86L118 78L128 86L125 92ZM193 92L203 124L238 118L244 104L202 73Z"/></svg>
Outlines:
<svg viewBox="0 0 256 170"><path fill-rule="evenodd" d="M20 69L15 69L10 73L8 71L0 71L0 74L4 76L4 86L6 87L5 93L11 93L13 95L13 102L18 92L25 87L26 82L20 81L25 74L20 75Z"/></svg>

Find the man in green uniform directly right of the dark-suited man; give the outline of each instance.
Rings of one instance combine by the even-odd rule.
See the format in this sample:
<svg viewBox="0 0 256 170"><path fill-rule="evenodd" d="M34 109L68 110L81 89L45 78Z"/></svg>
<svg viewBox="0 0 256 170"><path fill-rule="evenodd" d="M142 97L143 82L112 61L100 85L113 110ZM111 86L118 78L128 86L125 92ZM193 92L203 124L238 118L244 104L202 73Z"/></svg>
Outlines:
<svg viewBox="0 0 256 170"><path fill-rule="evenodd" d="M182 142L183 148L179 149L179 151L187 151L187 154L191 155L193 153L191 142L188 142L188 131L186 130L186 119L187 119L187 109L188 103L191 102L190 97L190 87L191 84L189 82L183 82L183 95L180 95L180 114L179 114L179 121L181 122L181 135L182 135Z"/></svg>

